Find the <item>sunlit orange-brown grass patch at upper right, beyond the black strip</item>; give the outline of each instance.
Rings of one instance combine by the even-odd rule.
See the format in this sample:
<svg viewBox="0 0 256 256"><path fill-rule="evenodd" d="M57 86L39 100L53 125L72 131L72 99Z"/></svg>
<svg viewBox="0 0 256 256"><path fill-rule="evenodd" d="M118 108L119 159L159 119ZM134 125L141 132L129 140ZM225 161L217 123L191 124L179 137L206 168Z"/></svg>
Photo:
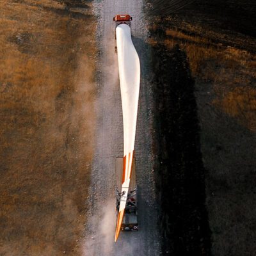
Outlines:
<svg viewBox="0 0 256 256"><path fill-rule="evenodd" d="M213 83L218 100L212 104L248 129L256 131L253 121L256 119L255 102L253 97L249 97L255 94L250 84L256 79L256 57L234 47L220 47L204 36L186 35L175 29L167 29L166 35L168 38L164 44L168 48L179 44L186 52L193 76ZM156 45L157 41L151 38L150 44Z"/></svg>

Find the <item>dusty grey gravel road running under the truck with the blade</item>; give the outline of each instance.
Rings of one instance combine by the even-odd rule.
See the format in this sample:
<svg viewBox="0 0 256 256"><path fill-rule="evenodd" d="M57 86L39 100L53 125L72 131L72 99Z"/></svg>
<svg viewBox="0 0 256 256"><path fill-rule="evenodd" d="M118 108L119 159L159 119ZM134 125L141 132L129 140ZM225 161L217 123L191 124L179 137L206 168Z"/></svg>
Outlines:
<svg viewBox="0 0 256 256"><path fill-rule="evenodd" d="M84 255L159 255L157 206L151 161L152 88L148 83L147 31L142 1L107 0L95 3L99 15L97 38L100 47L98 66L97 146L90 187L91 212L86 228ZM117 56L114 52L116 13L132 17L133 42L141 63L141 87L135 141L139 232L115 236L115 158L123 156L123 124Z"/></svg>

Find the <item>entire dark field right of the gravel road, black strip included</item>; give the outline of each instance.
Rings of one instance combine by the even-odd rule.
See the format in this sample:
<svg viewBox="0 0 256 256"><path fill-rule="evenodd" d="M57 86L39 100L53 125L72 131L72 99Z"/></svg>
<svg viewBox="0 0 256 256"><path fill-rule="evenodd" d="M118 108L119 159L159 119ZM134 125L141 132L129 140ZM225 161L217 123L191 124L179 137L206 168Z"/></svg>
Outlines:
<svg viewBox="0 0 256 256"><path fill-rule="evenodd" d="M255 3L147 3L162 253L253 255Z"/></svg>

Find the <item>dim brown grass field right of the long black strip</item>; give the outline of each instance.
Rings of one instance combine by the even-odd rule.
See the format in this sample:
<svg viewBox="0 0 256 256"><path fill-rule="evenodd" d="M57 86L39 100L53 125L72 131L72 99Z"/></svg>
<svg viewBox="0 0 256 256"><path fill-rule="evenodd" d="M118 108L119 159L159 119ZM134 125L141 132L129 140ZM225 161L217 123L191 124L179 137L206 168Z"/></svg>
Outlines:
<svg viewBox="0 0 256 256"><path fill-rule="evenodd" d="M211 253L255 255L255 38L243 30L250 19L236 31L228 27L232 20L225 27L218 15L205 15L207 3L204 8L156 16L149 42L170 51L178 44L195 79ZM159 29L161 38L155 36Z"/></svg>

